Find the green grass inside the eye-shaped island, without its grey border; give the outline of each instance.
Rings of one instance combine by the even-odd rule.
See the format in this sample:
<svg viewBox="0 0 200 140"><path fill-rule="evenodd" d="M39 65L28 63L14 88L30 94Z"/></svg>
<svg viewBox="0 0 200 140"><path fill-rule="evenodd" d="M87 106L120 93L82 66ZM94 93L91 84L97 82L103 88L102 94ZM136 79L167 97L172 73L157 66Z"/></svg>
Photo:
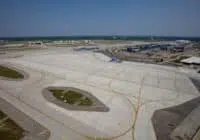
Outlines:
<svg viewBox="0 0 200 140"><path fill-rule="evenodd" d="M58 99L63 101L66 104L70 105L79 105L79 106L91 106L93 102L83 94L79 92L75 92L72 90L65 91L65 90L57 90L52 89L50 92Z"/></svg>

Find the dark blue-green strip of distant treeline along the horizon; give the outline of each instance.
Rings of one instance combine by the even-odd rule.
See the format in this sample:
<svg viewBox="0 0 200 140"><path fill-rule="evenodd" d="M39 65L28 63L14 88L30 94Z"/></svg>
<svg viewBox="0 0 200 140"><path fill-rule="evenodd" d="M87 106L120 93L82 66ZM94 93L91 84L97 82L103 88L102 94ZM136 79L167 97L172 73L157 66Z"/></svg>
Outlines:
<svg viewBox="0 0 200 140"><path fill-rule="evenodd" d="M55 40L191 40L200 41L200 37L164 37L164 36L56 36L56 37L0 37L7 41L55 41Z"/></svg>

